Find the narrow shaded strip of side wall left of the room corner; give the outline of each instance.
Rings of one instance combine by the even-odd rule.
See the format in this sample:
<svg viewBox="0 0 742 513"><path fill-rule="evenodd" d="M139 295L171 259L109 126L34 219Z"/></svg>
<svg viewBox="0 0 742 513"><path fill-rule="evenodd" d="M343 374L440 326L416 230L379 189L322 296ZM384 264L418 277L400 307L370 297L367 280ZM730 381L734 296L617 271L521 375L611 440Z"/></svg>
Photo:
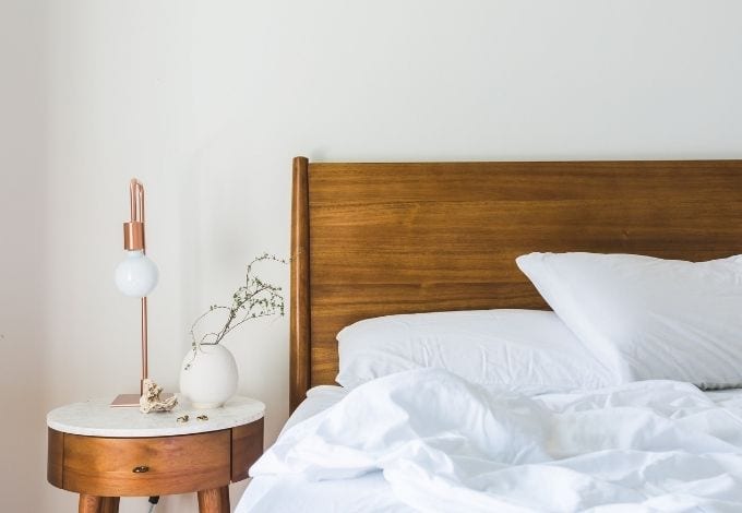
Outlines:
<svg viewBox="0 0 742 513"><path fill-rule="evenodd" d="M45 0L0 2L0 511L46 478ZM28 508L31 506L31 508Z"/></svg>

